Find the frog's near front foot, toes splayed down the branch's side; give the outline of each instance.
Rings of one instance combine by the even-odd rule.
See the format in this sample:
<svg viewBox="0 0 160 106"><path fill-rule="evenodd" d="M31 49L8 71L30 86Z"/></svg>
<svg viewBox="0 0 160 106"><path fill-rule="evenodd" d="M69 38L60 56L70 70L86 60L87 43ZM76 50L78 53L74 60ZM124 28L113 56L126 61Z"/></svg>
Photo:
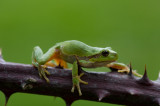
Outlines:
<svg viewBox="0 0 160 106"><path fill-rule="evenodd" d="M81 77L82 77L83 75L84 75L84 73L81 73L80 75L77 75L77 76L73 76L73 77L72 77L73 86L72 86L71 92L74 92L75 87L77 87L79 96L82 95L81 88L80 88L80 85L79 85L79 84L80 84L80 83L88 84L88 82L85 82L85 81L81 80Z"/></svg>

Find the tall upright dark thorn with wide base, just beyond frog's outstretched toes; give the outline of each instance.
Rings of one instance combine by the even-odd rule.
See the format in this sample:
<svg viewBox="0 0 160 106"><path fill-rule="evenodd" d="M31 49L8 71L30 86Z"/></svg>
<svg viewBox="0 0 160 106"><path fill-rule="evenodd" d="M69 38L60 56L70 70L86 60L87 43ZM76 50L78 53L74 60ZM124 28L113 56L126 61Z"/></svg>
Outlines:
<svg viewBox="0 0 160 106"><path fill-rule="evenodd" d="M146 65L145 65L145 71L144 71L144 75L143 77L138 81L141 84L144 85L152 85L152 82L149 80L148 76L147 76L147 69L146 69Z"/></svg>

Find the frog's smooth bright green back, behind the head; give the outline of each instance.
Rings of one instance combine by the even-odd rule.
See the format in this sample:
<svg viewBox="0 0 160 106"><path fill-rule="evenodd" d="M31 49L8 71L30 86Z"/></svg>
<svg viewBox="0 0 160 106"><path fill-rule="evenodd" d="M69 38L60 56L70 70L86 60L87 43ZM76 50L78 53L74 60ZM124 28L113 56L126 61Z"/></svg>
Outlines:
<svg viewBox="0 0 160 106"><path fill-rule="evenodd" d="M83 42L77 40L69 40L59 43L63 54L77 55L77 56L91 56L99 53L99 49L91 47Z"/></svg>

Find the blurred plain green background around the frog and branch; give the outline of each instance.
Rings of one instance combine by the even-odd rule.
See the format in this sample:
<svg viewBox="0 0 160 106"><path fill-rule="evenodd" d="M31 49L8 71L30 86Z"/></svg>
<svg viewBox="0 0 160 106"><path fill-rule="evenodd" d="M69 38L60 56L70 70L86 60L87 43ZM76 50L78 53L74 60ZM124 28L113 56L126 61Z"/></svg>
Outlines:
<svg viewBox="0 0 160 106"><path fill-rule="evenodd" d="M57 42L74 39L92 46L111 46L119 53L119 62L132 62L141 74L147 64L148 76L155 80L160 69L159 4L159 0L0 0L3 57L6 61L31 64L34 46L46 51ZM2 92L0 98L3 106ZM65 102L59 97L16 93L8 103L44 105L65 106ZM106 104L84 100L72 104L82 105Z"/></svg>

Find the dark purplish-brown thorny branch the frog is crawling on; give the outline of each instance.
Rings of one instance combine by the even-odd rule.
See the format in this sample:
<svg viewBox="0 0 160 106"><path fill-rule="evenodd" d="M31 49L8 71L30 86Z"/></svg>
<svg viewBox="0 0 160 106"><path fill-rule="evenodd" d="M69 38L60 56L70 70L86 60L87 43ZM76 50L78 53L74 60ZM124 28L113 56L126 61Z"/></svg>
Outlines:
<svg viewBox="0 0 160 106"><path fill-rule="evenodd" d="M67 106L78 99L129 106L160 105L160 79L149 80L146 70L142 78L133 76L132 69L128 75L115 71L85 72L82 80L88 85L81 84L82 96L77 91L71 93L71 70L49 67L48 71L50 83L41 79L32 65L5 62L0 55L0 90L6 100L15 92L25 92L62 97Z"/></svg>

